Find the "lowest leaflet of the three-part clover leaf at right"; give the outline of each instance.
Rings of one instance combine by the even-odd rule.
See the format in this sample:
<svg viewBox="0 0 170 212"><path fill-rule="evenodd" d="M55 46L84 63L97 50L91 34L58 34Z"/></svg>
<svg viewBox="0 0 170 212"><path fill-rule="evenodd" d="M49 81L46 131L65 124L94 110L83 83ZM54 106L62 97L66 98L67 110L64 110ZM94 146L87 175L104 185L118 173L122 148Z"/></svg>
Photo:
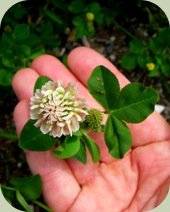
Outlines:
<svg viewBox="0 0 170 212"><path fill-rule="evenodd" d="M123 158L132 144L129 128L112 116L109 116L106 122L104 137L109 152L114 158Z"/></svg>

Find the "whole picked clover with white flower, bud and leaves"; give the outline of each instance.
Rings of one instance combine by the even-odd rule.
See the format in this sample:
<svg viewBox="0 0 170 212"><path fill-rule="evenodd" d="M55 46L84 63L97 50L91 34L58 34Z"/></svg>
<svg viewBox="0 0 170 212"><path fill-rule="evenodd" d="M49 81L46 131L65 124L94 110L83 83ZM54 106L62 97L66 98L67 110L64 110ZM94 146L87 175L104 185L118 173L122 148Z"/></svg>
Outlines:
<svg viewBox="0 0 170 212"><path fill-rule="evenodd" d="M22 130L19 146L31 151L52 150L60 159L73 157L84 164L88 150L97 163L100 150L89 135L94 131L103 133L112 157L123 158L132 146L127 123L146 119L154 111L158 93L140 83L121 90L116 76L104 66L93 70L87 84L103 110L89 108L71 83L64 87L61 81L38 78L30 100L30 120Z"/></svg>

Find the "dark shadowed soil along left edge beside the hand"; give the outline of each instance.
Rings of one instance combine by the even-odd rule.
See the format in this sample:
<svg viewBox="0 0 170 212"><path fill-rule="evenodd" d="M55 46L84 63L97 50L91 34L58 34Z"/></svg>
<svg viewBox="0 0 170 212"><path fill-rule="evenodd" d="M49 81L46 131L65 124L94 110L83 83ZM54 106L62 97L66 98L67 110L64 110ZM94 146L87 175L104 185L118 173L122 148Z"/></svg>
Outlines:
<svg viewBox="0 0 170 212"><path fill-rule="evenodd" d="M13 177L30 175L30 171L18 141L10 139L11 134L15 135L12 113L17 99L9 89L0 88L0 93L0 133L7 134L0 139L0 183L7 184Z"/></svg>

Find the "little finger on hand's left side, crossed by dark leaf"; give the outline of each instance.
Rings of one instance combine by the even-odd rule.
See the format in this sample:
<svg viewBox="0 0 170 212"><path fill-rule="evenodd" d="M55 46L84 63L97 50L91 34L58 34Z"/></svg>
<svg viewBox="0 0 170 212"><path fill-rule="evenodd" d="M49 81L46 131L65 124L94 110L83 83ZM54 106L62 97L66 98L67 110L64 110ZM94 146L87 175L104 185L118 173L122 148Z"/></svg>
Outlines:
<svg viewBox="0 0 170 212"><path fill-rule="evenodd" d="M29 119L28 108L28 100L22 100L14 110L18 134ZM27 151L26 158L31 171L41 176L42 190L47 204L54 211L67 211L80 192L79 184L67 163L57 159L50 151Z"/></svg>

